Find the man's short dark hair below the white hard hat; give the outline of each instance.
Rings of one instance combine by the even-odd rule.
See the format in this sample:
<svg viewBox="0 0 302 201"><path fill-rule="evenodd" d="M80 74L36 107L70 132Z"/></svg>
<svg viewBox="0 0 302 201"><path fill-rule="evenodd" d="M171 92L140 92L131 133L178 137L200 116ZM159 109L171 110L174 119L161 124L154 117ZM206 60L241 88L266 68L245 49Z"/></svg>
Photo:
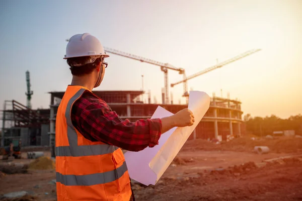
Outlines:
<svg viewBox="0 0 302 201"><path fill-rule="evenodd" d="M67 64L70 66L69 69L71 71L71 74L75 76L84 76L90 74L94 69L96 69L97 64L99 62L102 62L102 58L97 58L94 62L87 63L87 61L90 59L90 56L67 59ZM77 66L74 66L74 64L77 64Z"/></svg>

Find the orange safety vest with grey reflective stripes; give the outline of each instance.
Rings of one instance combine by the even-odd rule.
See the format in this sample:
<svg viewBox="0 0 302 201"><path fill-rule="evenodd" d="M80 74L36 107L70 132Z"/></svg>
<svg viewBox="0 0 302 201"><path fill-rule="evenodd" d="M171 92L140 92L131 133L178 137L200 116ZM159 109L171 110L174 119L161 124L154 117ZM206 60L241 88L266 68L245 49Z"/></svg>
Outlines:
<svg viewBox="0 0 302 201"><path fill-rule="evenodd" d="M72 105L84 91L90 90L68 85L58 108L55 128L57 199L128 201L132 191L122 150L86 139L71 123Z"/></svg>

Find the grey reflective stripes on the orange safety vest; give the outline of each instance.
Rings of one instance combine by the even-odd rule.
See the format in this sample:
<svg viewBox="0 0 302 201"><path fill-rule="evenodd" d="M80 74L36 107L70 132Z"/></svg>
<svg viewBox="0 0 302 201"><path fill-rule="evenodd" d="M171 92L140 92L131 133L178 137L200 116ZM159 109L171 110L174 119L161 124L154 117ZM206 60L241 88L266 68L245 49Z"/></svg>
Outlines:
<svg viewBox="0 0 302 201"><path fill-rule="evenodd" d="M118 147L108 145L108 144L96 144L96 145L81 145L78 146L78 135L77 131L72 125L70 112L71 106L75 100L77 100L84 93L85 89L81 88L77 93L75 93L68 101L65 118L67 123L67 138L69 146L58 146L56 147L56 156L93 156L93 155L102 155L113 153ZM126 162L122 166L118 167L115 170L94 173L88 175L64 175L59 172L56 172L57 182L62 183L63 185L96 185L103 184L107 182L114 181L120 178L127 171Z"/></svg>

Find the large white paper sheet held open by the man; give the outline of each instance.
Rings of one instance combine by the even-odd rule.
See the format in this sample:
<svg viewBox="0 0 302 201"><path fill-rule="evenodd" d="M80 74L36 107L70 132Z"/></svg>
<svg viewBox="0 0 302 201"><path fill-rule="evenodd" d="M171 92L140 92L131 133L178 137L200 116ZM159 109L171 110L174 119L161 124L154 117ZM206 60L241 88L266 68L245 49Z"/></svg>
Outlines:
<svg viewBox="0 0 302 201"><path fill-rule="evenodd" d="M124 155L130 177L144 185L155 185L205 115L209 105L210 97L205 92L190 91L188 109L194 114L194 125L167 131L153 148L147 147L139 152L127 151ZM169 111L158 107L152 119L171 115L173 114Z"/></svg>

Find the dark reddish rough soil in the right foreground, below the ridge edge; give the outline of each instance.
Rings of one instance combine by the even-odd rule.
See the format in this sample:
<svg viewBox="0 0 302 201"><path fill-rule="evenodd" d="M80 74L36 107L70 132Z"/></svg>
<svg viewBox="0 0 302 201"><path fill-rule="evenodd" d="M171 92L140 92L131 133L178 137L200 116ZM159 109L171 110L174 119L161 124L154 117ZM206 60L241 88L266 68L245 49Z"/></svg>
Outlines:
<svg viewBox="0 0 302 201"><path fill-rule="evenodd" d="M134 190L136 200L301 200L302 161L257 168L247 163L233 171L200 171L200 177L163 178ZM239 173L239 172L240 173ZM134 187L135 188L135 187Z"/></svg>

